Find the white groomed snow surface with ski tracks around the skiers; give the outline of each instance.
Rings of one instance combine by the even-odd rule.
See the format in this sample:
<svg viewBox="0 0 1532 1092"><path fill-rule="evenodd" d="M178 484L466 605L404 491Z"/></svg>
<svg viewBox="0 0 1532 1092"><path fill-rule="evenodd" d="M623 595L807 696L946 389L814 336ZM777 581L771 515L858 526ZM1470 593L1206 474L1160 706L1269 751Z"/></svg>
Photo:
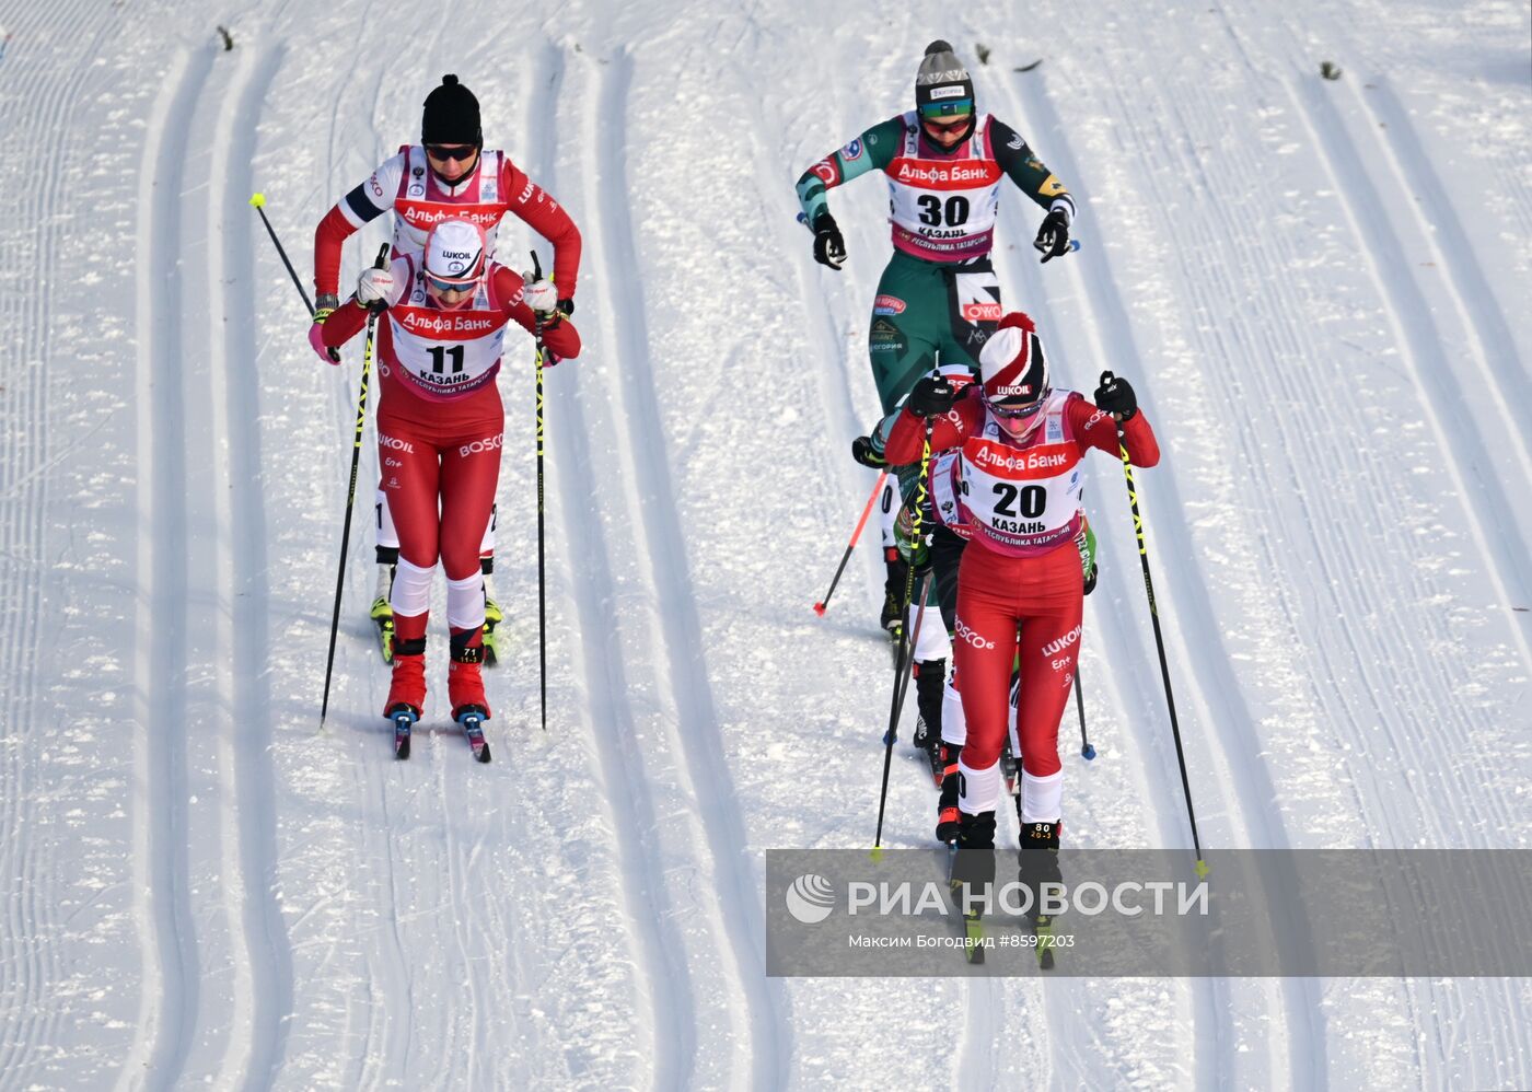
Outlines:
<svg viewBox="0 0 1532 1092"><path fill-rule="evenodd" d="M832 274L792 184L907 109L933 37L1080 199L1083 248L1043 268L1007 193L1007 302L1062 381L1111 368L1158 429L1140 486L1204 844L1529 847L1526 3L0 23L0 1086L1532 1084L1524 979L768 980L761 896L769 847L870 844L889 685L876 550L809 610L872 484L847 452L884 193L832 195ZM547 378L547 735L525 338L501 380L486 767L440 622L391 758L371 446L316 732L360 351L314 360L247 207L306 279L314 222L443 72L585 237L587 349ZM1189 845L1121 475L1092 473L1102 755L1066 757L1068 838ZM927 845L933 804L901 744L887 844Z"/></svg>

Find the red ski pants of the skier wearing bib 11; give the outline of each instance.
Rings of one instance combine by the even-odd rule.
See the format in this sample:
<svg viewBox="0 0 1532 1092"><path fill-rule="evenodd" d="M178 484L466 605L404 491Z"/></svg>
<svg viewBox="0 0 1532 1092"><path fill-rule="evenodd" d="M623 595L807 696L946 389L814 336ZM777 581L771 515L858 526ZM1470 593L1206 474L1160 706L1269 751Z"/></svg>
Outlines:
<svg viewBox="0 0 1532 1092"><path fill-rule="evenodd" d="M499 400L495 400L499 410ZM499 486L506 417L423 424L378 406L378 469L398 530L398 553L411 565L441 561L449 580L480 571L480 542Z"/></svg>

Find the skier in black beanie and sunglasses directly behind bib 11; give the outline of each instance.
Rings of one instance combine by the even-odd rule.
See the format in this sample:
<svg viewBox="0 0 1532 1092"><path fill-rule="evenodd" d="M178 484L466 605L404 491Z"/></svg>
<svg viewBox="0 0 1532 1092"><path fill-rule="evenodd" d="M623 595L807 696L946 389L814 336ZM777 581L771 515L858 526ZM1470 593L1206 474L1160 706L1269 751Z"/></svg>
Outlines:
<svg viewBox="0 0 1532 1092"><path fill-rule="evenodd" d="M339 305L342 244L363 224L386 211L394 213L394 257L418 256L426 234L447 217L467 219L484 231L489 254L501 217L515 213L538 234L553 244L553 283L559 309L574 311L574 279L579 273L581 237L574 221L559 204L516 167L504 152L484 149L480 104L455 75L441 77L441 86L426 96L420 121L420 144L401 145L372 176L334 205L314 231L316 323L309 342L323 355L320 323ZM495 516L484 531L480 565L484 573L487 639L493 654L493 628L501 620L490 590L495 568ZM398 559L398 533L389 510L388 490L377 492L378 580L372 600L372 620L391 656L392 613L388 605L394 564Z"/></svg>

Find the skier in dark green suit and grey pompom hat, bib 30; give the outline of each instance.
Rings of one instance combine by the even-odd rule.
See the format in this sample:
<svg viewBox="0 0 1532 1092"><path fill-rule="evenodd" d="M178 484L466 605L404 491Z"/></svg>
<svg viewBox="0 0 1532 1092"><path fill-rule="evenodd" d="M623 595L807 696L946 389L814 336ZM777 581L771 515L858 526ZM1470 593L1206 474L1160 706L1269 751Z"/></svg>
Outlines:
<svg viewBox="0 0 1532 1092"><path fill-rule="evenodd" d="M889 182L893 256L878 282L867 354L882 412L942 363L977 368L977 352L1000 317L1000 286L990 262L1000 184L1010 179L1048 210L1034 247L1042 260L1069 247L1075 207L1063 184L999 118L979 113L973 80L945 41L925 47L915 77L915 109L882 121L820 159L798 179L798 202L813 230L813 257L832 270L846 242L826 193L882 172ZM893 484L882 504L887 562L882 625L902 625L905 570L893 547Z"/></svg>

